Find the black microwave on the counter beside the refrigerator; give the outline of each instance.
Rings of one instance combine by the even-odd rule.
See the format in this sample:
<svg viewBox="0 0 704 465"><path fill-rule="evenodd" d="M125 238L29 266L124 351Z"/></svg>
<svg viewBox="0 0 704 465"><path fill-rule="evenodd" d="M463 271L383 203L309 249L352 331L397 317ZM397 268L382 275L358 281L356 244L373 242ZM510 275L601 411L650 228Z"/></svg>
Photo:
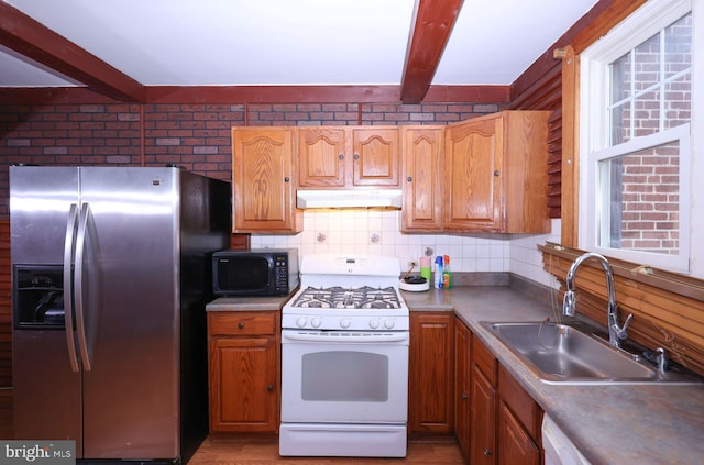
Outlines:
<svg viewBox="0 0 704 465"><path fill-rule="evenodd" d="M216 296L285 296L299 283L297 248L231 248L212 254Z"/></svg>

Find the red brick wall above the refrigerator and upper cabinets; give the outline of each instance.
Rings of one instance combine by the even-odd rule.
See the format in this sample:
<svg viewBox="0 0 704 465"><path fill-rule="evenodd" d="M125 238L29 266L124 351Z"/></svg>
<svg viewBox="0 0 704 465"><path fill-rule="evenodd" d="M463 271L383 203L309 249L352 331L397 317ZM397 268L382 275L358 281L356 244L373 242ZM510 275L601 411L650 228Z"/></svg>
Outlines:
<svg viewBox="0 0 704 465"><path fill-rule="evenodd" d="M233 125L446 124L498 103L0 106L0 219L8 166L164 166L231 180Z"/></svg>

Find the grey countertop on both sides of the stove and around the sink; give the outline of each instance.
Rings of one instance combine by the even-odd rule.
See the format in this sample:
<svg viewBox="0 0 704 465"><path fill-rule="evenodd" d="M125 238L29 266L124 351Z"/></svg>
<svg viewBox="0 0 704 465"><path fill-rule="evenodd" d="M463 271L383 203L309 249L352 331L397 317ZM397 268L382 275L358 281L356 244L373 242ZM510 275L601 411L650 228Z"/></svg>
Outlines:
<svg viewBox="0 0 704 465"><path fill-rule="evenodd" d="M411 311L454 311L593 464L703 463L704 385L548 385L480 322L556 321L559 309L507 286L402 294ZM220 298L207 308L278 310L288 298Z"/></svg>

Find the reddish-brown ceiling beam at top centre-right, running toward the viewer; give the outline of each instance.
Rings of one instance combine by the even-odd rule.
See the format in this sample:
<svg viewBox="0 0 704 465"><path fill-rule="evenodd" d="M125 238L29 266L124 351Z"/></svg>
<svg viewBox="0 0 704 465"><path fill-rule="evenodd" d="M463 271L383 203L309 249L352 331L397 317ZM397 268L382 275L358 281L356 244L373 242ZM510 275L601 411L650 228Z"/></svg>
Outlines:
<svg viewBox="0 0 704 465"><path fill-rule="evenodd" d="M416 0L402 81L404 103L419 103L426 96L462 1Z"/></svg>

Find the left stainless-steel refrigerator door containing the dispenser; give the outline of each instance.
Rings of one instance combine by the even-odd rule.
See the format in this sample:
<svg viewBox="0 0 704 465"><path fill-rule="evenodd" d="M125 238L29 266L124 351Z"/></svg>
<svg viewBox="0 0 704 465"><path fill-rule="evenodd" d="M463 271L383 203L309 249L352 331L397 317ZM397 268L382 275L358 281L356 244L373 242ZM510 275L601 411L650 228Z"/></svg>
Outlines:
<svg viewBox="0 0 704 465"><path fill-rule="evenodd" d="M79 451L80 372L72 370L66 331L55 321L68 213L77 202L77 168L10 167L15 438L75 440ZM21 268L26 274L18 276ZM29 288L18 291L18 280L28 279ZM33 319L37 311L41 318Z"/></svg>

